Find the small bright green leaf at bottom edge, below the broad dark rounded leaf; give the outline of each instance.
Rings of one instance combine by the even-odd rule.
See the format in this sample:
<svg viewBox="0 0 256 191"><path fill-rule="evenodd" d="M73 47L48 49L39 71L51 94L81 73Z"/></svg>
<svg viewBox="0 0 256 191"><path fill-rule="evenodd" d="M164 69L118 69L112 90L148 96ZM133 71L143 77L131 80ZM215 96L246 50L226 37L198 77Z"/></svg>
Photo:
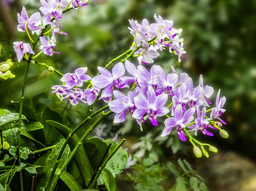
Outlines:
<svg viewBox="0 0 256 191"><path fill-rule="evenodd" d="M116 190L115 178L113 177L113 174L106 168L104 168L101 174L99 175L97 182L104 182L104 185L106 186L106 189L108 191Z"/></svg>

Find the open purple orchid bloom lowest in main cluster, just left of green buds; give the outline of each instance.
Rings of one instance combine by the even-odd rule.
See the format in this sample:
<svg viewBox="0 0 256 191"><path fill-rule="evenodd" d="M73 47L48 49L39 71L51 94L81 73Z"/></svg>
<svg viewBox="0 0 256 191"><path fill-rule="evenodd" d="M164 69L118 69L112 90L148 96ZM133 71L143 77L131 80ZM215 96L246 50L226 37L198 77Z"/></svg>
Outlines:
<svg viewBox="0 0 256 191"><path fill-rule="evenodd" d="M171 133L171 130L173 127L177 126L177 132L178 136L180 137L181 141L186 141L187 138L185 138L184 132L182 129L184 129L188 123L190 123L194 117L194 113L196 111L196 108L189 108L185 113L183 114L183 108L180 104L176 106L174 110L174 117L167 118L164 121L164 124L166 125L166 129L162 132L161 136L167 136Z"/></svg>

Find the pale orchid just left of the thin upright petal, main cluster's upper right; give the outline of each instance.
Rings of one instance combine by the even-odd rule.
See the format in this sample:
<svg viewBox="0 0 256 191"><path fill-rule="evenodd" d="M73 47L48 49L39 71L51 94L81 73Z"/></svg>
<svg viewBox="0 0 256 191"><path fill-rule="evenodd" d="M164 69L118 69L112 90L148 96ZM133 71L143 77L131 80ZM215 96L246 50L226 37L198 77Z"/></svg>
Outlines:
<svg viewBox="0 0 256 191"><path fill-rule="evenodd" d="M201 106L203 104L203 101L200 98L201 98L201 95L203 94L203 88L196 87L193 90L192 78L188 78L187 90L189 91L188 98L187 98L188 106L190 106L190 108L192 107L196 108L197 106Z"/></svg>

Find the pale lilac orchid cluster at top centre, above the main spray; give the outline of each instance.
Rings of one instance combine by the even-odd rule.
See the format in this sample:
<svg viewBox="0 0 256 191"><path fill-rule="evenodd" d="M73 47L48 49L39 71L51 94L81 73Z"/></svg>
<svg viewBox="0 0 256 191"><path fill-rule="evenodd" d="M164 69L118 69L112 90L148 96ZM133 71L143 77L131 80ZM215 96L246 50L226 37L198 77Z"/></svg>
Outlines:
<svg viewBox="0 0 256 191"><path fill-rule="evenodd" d="M186 53L183 50L183 39L180 39L178 34L181 29L173 28L172 20L163 20L159 15L154 15L155 23L149 24L146 18L139 24L136 20L129 20L131 27L128 29L134 36L134 54L138 55L139 64L152 64L153 59L159 56L157 50L169 48L169 52L178 55L178 61L181 61L181 56ZM151 41L153 39L153 41ZM139 48L141 46L142 48Z"/></svg>

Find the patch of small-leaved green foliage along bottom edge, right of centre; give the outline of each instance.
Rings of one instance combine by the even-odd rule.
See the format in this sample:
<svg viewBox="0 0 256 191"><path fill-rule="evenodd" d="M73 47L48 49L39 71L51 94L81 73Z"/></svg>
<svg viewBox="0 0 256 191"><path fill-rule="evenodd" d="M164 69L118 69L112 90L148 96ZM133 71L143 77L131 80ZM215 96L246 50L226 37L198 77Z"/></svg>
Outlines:
<svg viewBox="0 0 256 191"><path fill-rule="evenodd" d="M133 169L132 174L127 173L127 179L134 183L136 190L208 190L205 180L192 169L185 159L183 161L178 159L180 170L172 162L167 162L161 166L155 164L155 159L152 157L144 160L138 157L135 159L137 162L135 166L131 167ZM174 185L169 185L173 188L166 188L163 183L164 180L170 181L170 175L175 180Z"/></svg>

